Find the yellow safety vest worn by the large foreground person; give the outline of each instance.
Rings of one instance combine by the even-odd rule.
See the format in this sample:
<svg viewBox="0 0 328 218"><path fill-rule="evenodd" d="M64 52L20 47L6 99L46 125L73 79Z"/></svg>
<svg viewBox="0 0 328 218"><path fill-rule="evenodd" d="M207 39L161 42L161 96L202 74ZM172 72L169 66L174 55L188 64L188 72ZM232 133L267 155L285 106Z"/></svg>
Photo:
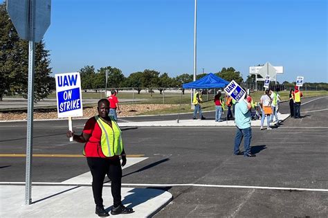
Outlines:
<svg viewBox="0 0 328 218"><path fill-rule="evenodd" d="M110 127L100 116L95 116L95 120L101 129L100 145L104 156L110 157L122 154L122 131L117 122L111 118Z"/></svg>

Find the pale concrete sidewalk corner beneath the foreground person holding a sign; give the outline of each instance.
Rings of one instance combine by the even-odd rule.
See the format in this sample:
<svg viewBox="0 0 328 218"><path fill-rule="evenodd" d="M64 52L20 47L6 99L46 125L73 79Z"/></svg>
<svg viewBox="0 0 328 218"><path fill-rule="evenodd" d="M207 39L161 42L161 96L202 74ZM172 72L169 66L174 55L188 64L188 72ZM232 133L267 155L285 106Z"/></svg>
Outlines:
<svg viewBox="0 0 328 218"><path fill-rule="evenodd" d="M146 158L128 158L127 168ZM33 183L32 204L25 203L25 183L0 183L0 217L98 217L92 197L92 176L86 172L62 183ZM151 217L172 200L172 194L154 188L122 188L122 203L134 209L129 215L115 217ZM110 183L102 190L104 208L111 210Z"/></svg>

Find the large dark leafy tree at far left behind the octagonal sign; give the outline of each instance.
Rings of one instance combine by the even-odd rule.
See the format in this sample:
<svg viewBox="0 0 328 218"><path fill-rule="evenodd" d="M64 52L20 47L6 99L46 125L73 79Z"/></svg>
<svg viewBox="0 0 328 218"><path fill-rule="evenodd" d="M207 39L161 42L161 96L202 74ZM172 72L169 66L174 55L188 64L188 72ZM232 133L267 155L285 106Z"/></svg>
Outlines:
<svg viewBox="0 0 328 218"><path fill-rule="evenodd" d="M3 95L21 94L28 96L28 42L19 39L8 13L6 3L0 4L0 100ZM35 101L51 93L51 67L49 51L44 42L35 44Z"/></svg>

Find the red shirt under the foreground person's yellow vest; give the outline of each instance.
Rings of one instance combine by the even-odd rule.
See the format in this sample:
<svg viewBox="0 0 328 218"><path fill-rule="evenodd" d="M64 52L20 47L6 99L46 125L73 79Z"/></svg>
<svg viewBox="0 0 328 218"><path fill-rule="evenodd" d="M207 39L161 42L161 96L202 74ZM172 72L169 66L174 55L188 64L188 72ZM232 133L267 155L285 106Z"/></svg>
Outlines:
<svg viewBox="0 0 328 218"><path fill-rule="evenodd" d="M86 157L102 157L106 158L101 150L100 139L102 130L100 129L95 117L90 118L84 125L83 132L91 135L89 140L84 145Z"/></svg>

